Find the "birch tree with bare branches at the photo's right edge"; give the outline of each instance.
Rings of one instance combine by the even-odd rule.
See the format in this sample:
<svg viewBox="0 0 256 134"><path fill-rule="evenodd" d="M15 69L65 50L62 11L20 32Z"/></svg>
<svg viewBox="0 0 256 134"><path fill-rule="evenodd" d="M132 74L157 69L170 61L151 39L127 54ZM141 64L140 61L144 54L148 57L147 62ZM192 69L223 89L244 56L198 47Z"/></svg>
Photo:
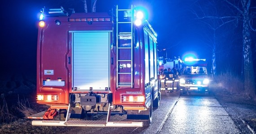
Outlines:
<svg viewBox="0 0 256 134"><path fill-rule="evenodd" d="M226 3L230 4L233 8L238 11L238 16L242 17L243 21L243 71L244 71L244 90L245 96L248 99L253 98L256 100L256 91L255 91L255 76L253 69L253 60L252 60L252 39L250 30L256 31L250 25L252 21L253 14L250 13L251 9L251 0L239 0L242 6L239 7L239 3L231 3L228 0L225 0Z"/></svg>

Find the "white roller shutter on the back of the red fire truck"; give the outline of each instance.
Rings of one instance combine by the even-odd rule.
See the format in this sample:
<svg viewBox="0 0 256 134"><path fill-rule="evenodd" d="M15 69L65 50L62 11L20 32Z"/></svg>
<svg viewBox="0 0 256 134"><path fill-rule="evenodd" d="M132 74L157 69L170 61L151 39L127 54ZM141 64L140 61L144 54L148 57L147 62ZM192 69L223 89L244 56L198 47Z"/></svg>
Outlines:
<svg viewBox="0 0 256 134"><path fill-rule="evenodd" d="M73 88L109 88L109 32L81 32L73 36Z"/></svg>

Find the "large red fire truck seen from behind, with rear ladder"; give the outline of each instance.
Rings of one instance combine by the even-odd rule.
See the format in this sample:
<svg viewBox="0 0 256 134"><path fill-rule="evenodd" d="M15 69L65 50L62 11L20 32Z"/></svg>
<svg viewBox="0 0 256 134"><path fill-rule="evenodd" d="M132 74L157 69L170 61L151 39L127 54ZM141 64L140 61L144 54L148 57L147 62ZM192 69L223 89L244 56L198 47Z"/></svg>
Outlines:
<svg viewBox="0 0 256 134"><path fill-rule="evenodd" d="M111 13L41 12L36 102L49 109L28 117L32 125L150 124L161 95L157 34L142 10L116 5ZM81 119L91 114L106 114L107 119ZM127 114L127 120L111 121L113 114Z"/></svg>

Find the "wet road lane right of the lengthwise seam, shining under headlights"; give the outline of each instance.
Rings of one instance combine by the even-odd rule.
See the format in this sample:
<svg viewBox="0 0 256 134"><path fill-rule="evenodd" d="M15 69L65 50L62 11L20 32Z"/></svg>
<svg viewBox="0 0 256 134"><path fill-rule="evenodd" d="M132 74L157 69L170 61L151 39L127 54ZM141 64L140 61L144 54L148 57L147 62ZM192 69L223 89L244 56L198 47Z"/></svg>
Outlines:
<svg viewBox="0 0 256 134"><path fill-rule="evenodd" d="M159 134L239 134L214 96L180 96Z"/></svg>

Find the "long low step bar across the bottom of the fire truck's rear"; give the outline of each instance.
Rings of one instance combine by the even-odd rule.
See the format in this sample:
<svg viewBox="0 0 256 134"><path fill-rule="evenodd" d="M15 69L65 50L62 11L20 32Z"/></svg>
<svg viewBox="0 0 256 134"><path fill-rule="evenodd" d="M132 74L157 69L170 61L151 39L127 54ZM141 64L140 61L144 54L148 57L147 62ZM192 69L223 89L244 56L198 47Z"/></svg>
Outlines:
<svg viewBox="0 0 256 134"><path fill-rule="evenodd" d="M142 127L142 121L32 121L32 126L99 126L99 127Z"/></svg>

